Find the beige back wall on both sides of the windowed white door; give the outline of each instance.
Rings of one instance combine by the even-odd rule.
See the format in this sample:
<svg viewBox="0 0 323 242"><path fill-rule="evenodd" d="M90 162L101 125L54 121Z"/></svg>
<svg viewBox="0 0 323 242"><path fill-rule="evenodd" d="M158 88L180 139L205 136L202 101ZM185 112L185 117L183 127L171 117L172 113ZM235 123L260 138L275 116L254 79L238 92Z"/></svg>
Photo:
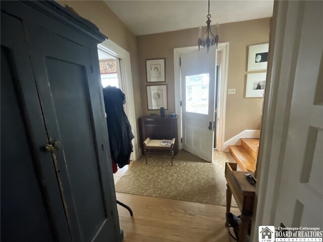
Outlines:
<svg viewBox="0 0 323 242"><path fill-rule="evenodd" d="M236 89L236 94L227 96L225 141L246 129L260 129L262 98L245 98L248 46L268 42L269 22L270 18L263 18L220 25L220 42L229 42L228 88ZM147 110L145 59L166 58L169 106L166 114L175 112L174 48L196 45L197 34L198 28L192 28L137 36L143 115L158 113Z"/></svg>

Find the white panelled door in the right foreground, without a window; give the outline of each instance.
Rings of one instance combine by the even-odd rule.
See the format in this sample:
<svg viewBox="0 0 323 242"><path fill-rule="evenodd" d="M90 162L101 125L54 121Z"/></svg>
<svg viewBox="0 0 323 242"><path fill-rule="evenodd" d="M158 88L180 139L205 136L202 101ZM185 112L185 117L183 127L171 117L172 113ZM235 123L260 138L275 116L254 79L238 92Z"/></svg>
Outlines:
<svg viewBox="0 0 323 242"><path fill-rule="evenodd" d="M323 224L323 2L288 2L287 22L297 23L298 40L291 66L289 124L275 225L320 227ZM289 36L290 37L290 36ZM283 55L283 60L286 56ZM285 80L284 80L285 81Z"/></svg>

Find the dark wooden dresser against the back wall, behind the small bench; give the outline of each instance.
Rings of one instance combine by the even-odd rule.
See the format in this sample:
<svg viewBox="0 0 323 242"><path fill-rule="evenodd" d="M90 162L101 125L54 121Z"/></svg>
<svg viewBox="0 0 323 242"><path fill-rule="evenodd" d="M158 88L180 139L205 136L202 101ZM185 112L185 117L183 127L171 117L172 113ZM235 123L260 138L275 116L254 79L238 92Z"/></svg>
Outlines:
<svg viewBox="0 0 323 242"><path fill-rule="evenodd" d="M174 155L178 154L177 117L139 117L140 146L144 154L143 142L152 140L171 140L176 138ZM160 152L160 151L158 151Z"/></svg>

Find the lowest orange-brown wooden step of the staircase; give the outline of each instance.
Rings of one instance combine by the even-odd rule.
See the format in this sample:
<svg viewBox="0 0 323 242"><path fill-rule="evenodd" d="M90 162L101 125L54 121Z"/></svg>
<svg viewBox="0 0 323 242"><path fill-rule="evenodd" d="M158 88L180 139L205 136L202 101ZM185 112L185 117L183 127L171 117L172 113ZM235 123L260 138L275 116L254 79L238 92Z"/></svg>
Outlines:
<svg viewBox="0 0 323 242"><path fill-rule="evenodd" d="M229 151L243 171L255 171L256 159L254 159L241 145L229 145Z"/></svg>

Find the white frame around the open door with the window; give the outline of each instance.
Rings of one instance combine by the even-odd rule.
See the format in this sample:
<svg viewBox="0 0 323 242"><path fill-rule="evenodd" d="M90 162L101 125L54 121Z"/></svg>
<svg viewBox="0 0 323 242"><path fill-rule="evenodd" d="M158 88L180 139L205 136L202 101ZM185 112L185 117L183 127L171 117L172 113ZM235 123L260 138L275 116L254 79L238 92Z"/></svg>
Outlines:
<svg viewBox="0 0 323 242"><path fill-rule="evenodd" d="M178 115L178 140L182 138L182 108L181 108L181 72L179 58L182 54L197 49L197 46L174 48L174 80L175 80L175 112ZM217 113L217 149L223 151L224 131L226 120L227 83L228 83L228 60L229 42L219 43L217 54L221 58L220 78L218 89L218 113ZM182 149L182 143L178 142L178 148Z"/></svg>

